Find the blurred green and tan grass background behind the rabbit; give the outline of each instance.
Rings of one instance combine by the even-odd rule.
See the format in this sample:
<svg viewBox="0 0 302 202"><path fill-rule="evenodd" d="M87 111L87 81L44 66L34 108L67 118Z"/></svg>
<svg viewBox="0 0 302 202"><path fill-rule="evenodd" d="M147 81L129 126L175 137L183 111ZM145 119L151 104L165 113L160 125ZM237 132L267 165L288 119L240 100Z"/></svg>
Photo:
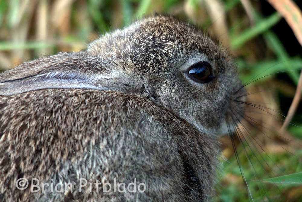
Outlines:
<svg viewBox="0 0 302 202"><path fill-rule="evenodd" d="M250 6L245 8L243 2ZM295 2L301 8L302 1ZM239 128L247 127L249 134L242 134L243 143L235 140L242 171L230 138L221 138L214 200L302 200L301 184L265 181L302 171L301 105L288 130L278 132L297 87L302 48L288 23L265 0L1 0L0 70L59 51L79 51L99 35L155 12L176 15L219 38L234 55L243 82L255 80L247 86L257 92L249 101L259 108L247 110L254 125L243 122Z"/></svg>

